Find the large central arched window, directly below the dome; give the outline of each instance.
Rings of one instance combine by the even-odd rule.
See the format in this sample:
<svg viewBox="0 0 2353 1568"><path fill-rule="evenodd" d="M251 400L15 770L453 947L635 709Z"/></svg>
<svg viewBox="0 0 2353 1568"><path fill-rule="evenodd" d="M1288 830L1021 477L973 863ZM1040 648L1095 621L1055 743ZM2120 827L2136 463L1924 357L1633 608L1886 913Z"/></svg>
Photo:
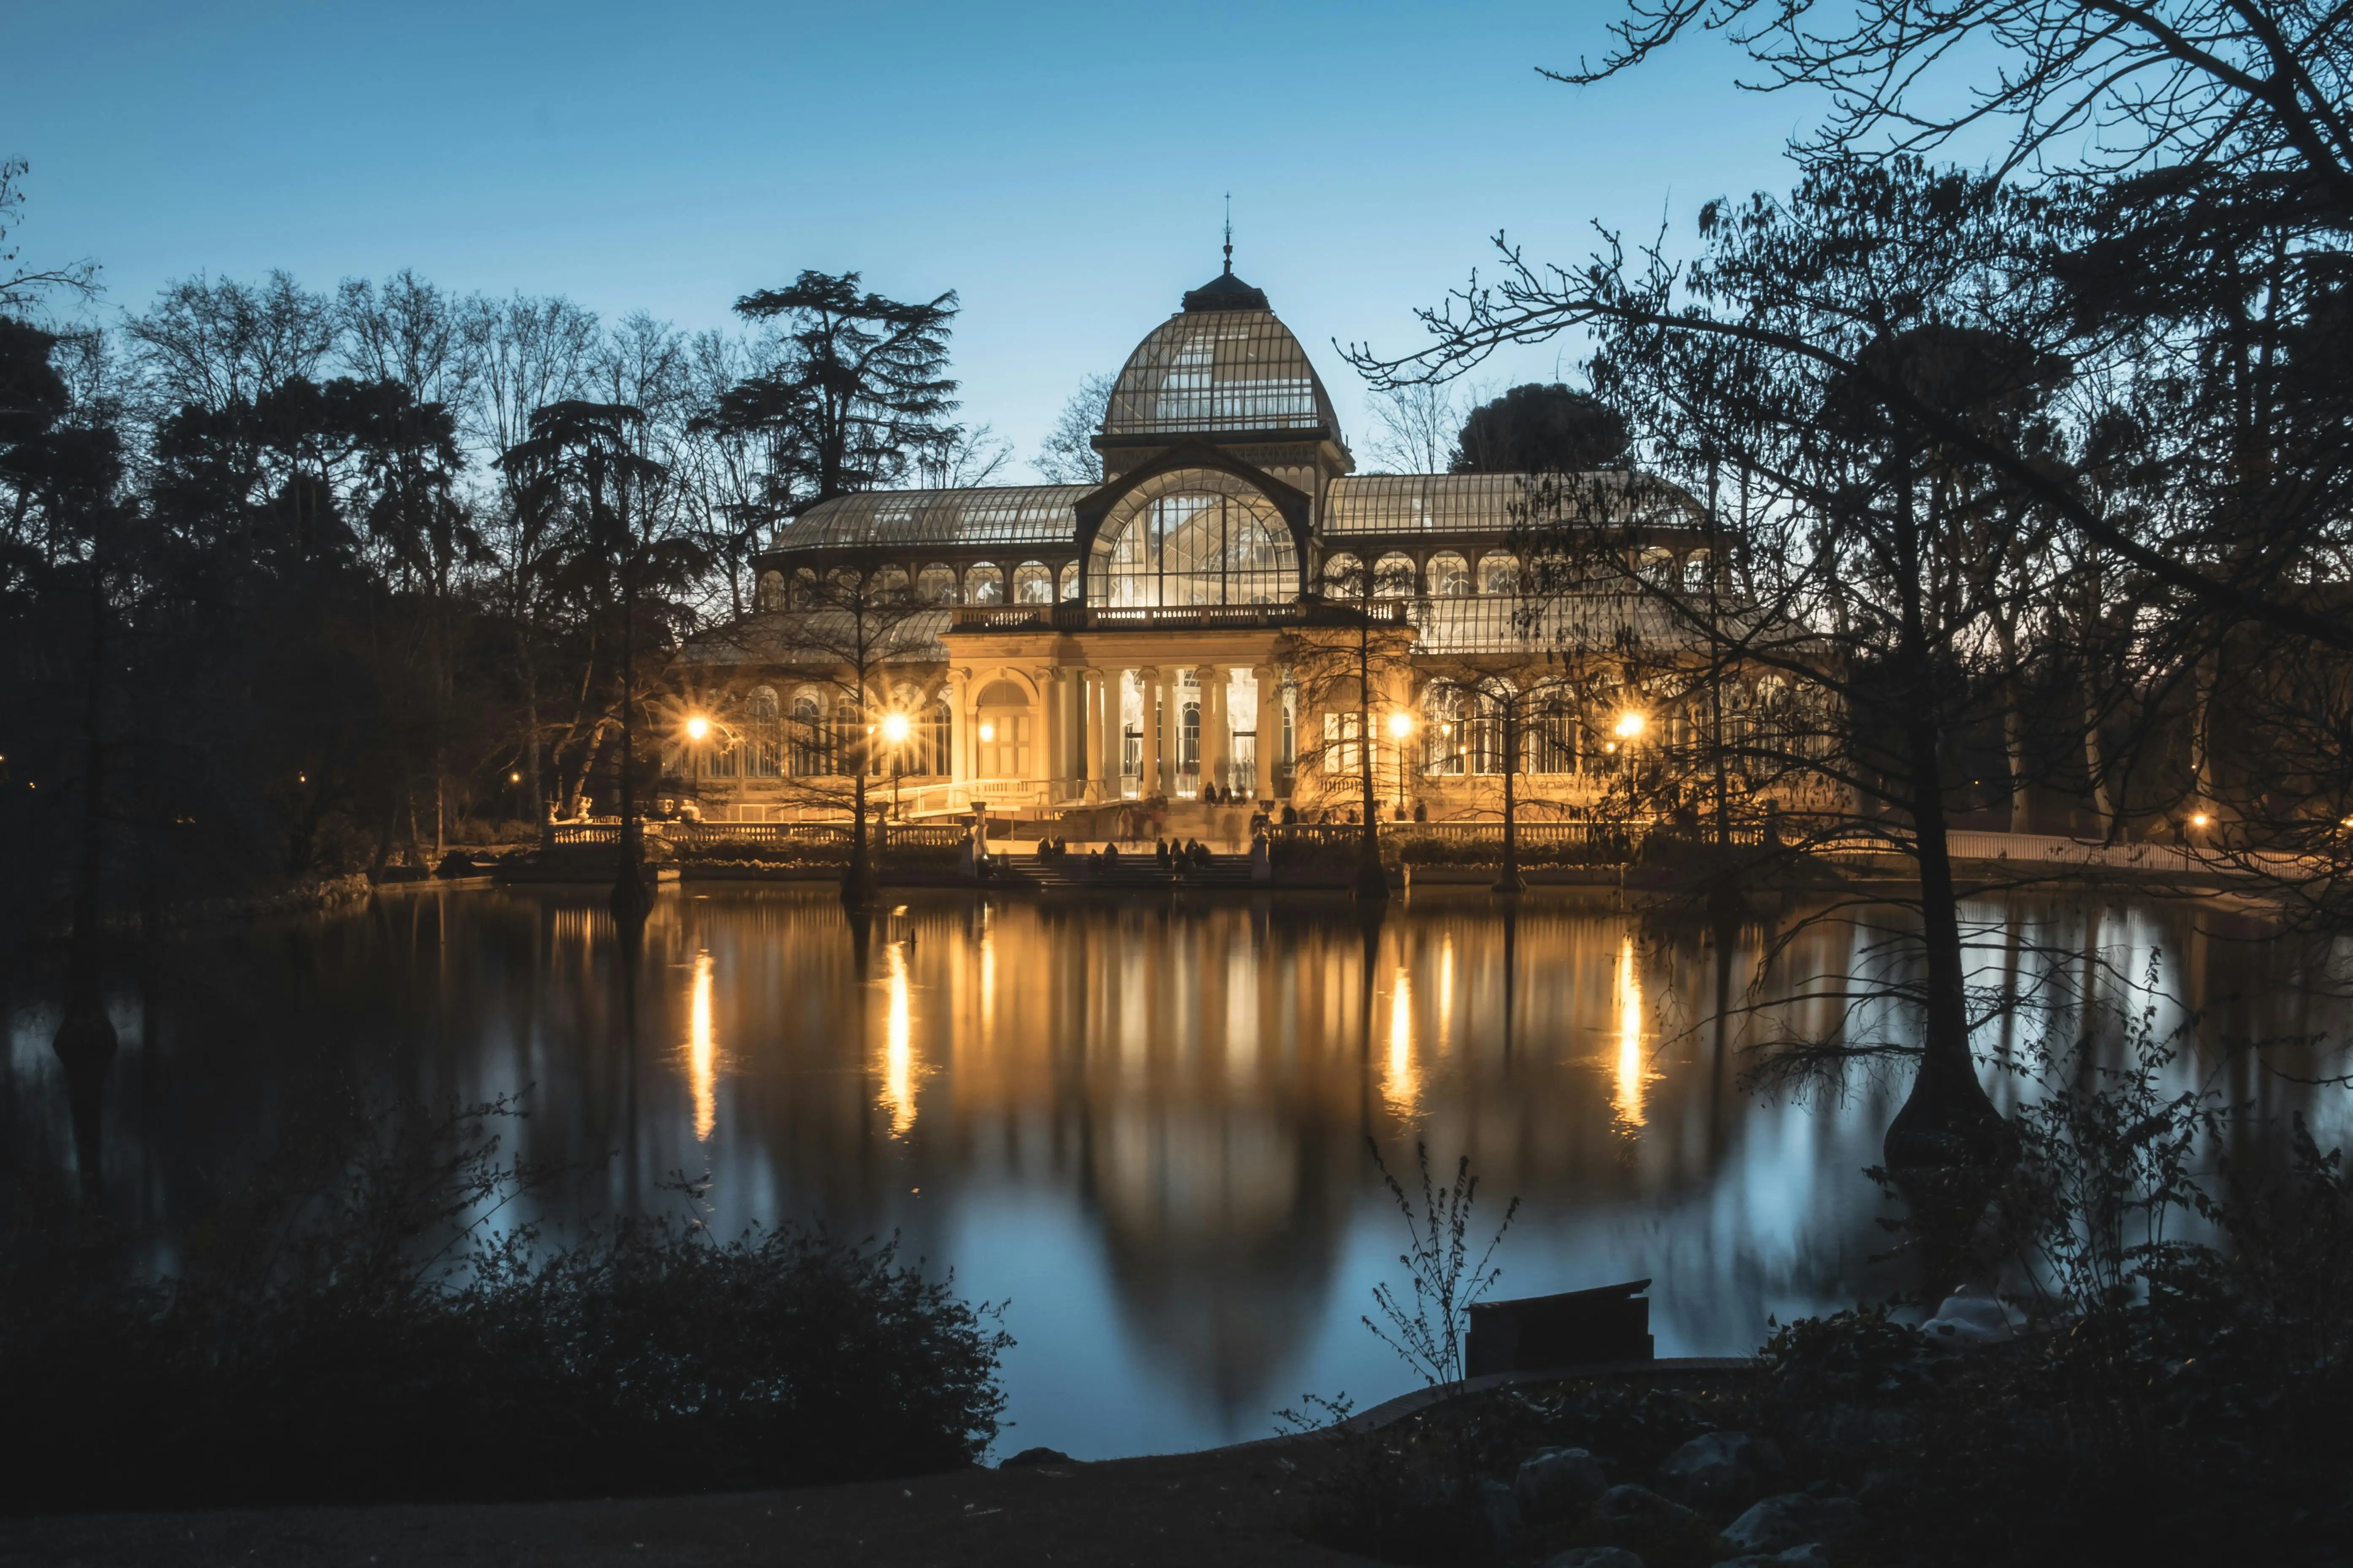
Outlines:
<svg viewBox="0 0 2353 1568"><path fill-rule="evenodd" d="M1087 597L1108 609L1278 604L1299 597L1299 550L1273 501L1233 475L1186 468L1104 517Z"/></svg>

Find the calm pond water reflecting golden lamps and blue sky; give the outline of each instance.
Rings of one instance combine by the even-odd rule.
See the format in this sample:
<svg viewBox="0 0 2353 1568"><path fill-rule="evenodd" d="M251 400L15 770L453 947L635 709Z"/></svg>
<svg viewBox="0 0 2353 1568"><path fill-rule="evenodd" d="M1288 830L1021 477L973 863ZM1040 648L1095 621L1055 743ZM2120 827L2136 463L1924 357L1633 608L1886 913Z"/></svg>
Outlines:
<svg viewBox="0 0 2353 1568"><path fill-rule="evenodd" d="M2186 905L1972 914L1991 992L2064 999L2089 978L2160 1027L2188 1001L2217 1034L2320 1034L2299 1060L2337 1060L2341 952ZM513 1147L593 1171L544 1218L678 1208L664 1178L708 1171L725 1229L899 1232L1007 1302L1000 1448L1198 1448L1264 1436L1308 1389L1417 1385L1360 1324L1402 1241L1367 1138L1393 1166L1417 1140L1468 1152L1489 1220L1522 1199L1506 1295L1652 1279L1659 1354L1739 1354L1767 1316L1904 1286L1873 1262L1887 1208L1861 1175L1901 1079L1805 1100L1739 1081L1748 1046L1831 1027L1840 992L1899 959L1821 926L1758 980L1765 943L1607 900L1506 924L1482 896L1417 896L1369 936L1346 905L911 898L859 940L828 891L671 889L624 976L598 896L386 893L193 938L125 983L106 1180L169 1239L322 1065L386 1095L527 1091ZM12 1166L71 1168L54 999L7 1009ZM1852 1037L1904 1030L1849 1018ZM2181 1072L2346 1135L2341 1095L2217 1060Z"/></svg>

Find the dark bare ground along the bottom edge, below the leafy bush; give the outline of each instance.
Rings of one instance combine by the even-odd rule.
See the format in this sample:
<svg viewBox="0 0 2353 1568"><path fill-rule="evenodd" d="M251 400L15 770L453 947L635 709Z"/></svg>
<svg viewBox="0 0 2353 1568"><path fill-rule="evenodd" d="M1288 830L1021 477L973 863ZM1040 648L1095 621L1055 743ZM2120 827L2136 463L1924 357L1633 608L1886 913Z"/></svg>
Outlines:
<svg viewBox="0 0 2353 1568"><path fill-rule="evenodd" d="M788 1493L0 1521L16 1568L379 1563L1367 1563L1297 1535L1292 1443L1099 1465L967 1469ZM1299 1458L1308 1458L1301 1453Z"/></svg>

